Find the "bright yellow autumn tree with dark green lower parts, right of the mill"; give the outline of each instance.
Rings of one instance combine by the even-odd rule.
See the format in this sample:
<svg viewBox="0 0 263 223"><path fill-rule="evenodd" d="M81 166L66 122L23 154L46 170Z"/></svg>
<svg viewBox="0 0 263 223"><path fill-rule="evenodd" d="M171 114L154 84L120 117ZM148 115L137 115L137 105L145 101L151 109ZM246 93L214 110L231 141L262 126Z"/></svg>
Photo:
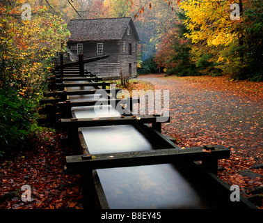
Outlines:
<svg viewBox="0 0 263 223"><path fill-rule="evenodd" d="M262 1L239 1L240 20L230 19L232 1L183 1L186 34L192 43L194 60L208 56L223 73L235 79L262 79ZM202 47L204 46L204 47ZM216 48L216 50L214 50ZM202 51L202 52L201 52ZM217 52L217 53L216 53ZM260 59L259 59L260 58Z"/></svg>

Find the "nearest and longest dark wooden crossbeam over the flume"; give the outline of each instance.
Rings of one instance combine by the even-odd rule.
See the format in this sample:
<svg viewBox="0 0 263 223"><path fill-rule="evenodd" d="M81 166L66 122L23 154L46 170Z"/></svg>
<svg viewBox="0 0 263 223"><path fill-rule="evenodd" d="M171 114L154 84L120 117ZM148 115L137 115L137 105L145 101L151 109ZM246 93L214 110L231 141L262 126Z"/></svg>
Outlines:
<svg viewBox="0 0 263 223"><path fill-rule="evenodd" d="M215 146L208 153L201 146L177 149L165 148L151 151L135 151L124 153L102 153L92 155L90 160L83 160L82 155L66 157L68 171L83 171L87 169L105 169L115 167L135 167L141 165L166 164L176 161L199 161L207 157L225 159L230 157L230 149L224 146Z"/></svg>

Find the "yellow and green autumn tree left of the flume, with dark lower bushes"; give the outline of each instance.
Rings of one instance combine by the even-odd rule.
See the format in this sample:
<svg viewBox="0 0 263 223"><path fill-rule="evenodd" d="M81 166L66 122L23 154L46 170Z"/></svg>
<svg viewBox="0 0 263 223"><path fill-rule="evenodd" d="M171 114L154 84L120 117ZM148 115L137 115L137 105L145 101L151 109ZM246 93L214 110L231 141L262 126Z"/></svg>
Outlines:
<svg viewBox="0 0 263 223"><path fill-rule="evenodd" d="M22 146L45 88L51 57L65 49L70 34L48 6L32 4L30 20L22 20L24 10L22 1L0 5L1 152Z"/></svg>

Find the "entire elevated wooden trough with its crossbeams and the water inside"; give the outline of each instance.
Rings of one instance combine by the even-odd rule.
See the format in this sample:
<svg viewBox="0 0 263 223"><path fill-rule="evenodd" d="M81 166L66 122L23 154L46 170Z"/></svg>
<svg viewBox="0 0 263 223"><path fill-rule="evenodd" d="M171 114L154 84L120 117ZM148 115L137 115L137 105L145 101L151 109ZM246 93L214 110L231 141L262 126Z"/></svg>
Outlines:
<svg viewBox="0 0 263 223"><path fill-rule="evenodd" d="M56 117L68 132L75 155L66 157L64 170L83 176L85 208L255 208L244 197L230 201L230 186L216 176L218 159L229 158L230 149L176 146L161 134L169 117L134 115L138 99L120 99L120 89L102 89L109 84L81 77L84 61L79 61L79 77L61 72L57 90L44 94L54 98L41 103L49 105L42 110L47 121ZM59 68L67 68L63 59ZM113 113L94 112L97 103Z"/></svg>

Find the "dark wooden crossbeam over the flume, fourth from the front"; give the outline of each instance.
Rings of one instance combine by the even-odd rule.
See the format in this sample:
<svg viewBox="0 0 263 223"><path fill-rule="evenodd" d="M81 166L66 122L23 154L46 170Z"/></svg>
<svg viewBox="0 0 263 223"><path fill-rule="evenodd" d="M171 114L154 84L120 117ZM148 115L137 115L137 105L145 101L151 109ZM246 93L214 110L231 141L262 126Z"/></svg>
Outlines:
<svg viewBox="0 0 263 223"><path fill-rule="evenodd" d="M105 93L122 93L122 89L90 89L90 90L79 90L79 91L47 91L43 95L45 97L58 97L65 95L93 95L93 94L105 94Z"/></svg>

